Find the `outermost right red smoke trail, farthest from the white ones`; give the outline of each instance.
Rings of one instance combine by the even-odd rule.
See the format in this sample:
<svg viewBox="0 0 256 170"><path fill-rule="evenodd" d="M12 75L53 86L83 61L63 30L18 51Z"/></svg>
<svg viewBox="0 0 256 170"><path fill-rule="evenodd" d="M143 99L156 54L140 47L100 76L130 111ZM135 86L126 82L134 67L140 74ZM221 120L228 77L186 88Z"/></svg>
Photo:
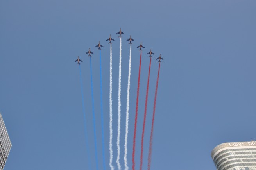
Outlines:
<svg viewBox="0 0 256 170"><path fill-rule="evenodd" d="M159 72L160 72L160 64L161 63L159 63L159 67L158 67L158 78L156 80L156 91L155 91L155 99L154 99L153 118L152 118L151 133L150 133L149 156L148 156L148 170L150 170L150 166L151 166L153 127L154 127L155 112L156 112L156 95L157 95L157 92L158 92L158 79L159 79Z"/></svg>

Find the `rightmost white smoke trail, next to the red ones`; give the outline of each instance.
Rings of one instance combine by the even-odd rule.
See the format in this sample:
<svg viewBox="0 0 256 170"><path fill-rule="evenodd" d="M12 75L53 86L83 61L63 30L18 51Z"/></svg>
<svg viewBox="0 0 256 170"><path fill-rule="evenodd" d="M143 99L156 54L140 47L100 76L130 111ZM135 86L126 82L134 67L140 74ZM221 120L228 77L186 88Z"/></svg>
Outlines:
<svg viewBox="0 0 256 170"><path fill-rule="evenodd" d="M125 122L125 143L124 143L124 165L125 170L128 170L127 165L127 138L128 138L128 123L129 123L129 99L130 99L130 79L131 79L131 58L132 58L132 44L130 45L130 57L129 57L129 73L128 73L128 85L127 85L127 99L126 99L126 122Z"/></svg>

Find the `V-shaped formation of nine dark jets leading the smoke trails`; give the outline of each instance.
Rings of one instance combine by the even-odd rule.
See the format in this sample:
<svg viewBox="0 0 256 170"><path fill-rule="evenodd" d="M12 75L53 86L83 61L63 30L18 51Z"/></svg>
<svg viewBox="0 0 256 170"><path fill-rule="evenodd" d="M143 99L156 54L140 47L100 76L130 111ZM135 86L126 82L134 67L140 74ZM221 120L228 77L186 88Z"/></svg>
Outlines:
<svg viewBox="0 0 256 170"><path fill-rule="evenodd" d="M119 34L118 37L122 37L122 34L124 34L124 32L121 31L121 28L120 30L116 33L116 34ZM109 44L112 44L111 41L115 41L113 38L111 38L111 35L109 35L109 38L106 40L106 41L109 41ZM130 35L130 38L127 39L126 41L130 41L129 44L132 44L132 41L134 41L134 39L132 39L132 36ZM103 45L100 44L100 41L98 41L98 44L95 46L95 47L98 47L98 50L101 50L100 47L103 47ZM142 50L141 48L145 48L143 45L142 45L142 42L140 42L140 45L137 47L137 48L140 48L140 50ZM89 48L89 51L86 52L86 54L89 54L88 57L91 57L91 54L93 54L93 52L91 52L90 48ZM155 55L151 49L150 49L150 52L147 53L147 55L149 54L149 57L152 57L152 54ZM159 60L158 62L161 63L161 60L163 60L163 58L161 57L161 54L160 56L156 59L156 60ZM75 62L77 62L77 64L81 64L80 61L82 62L81 59L79 59L79 57L77 57L77 60L75 60Z"/></svg>

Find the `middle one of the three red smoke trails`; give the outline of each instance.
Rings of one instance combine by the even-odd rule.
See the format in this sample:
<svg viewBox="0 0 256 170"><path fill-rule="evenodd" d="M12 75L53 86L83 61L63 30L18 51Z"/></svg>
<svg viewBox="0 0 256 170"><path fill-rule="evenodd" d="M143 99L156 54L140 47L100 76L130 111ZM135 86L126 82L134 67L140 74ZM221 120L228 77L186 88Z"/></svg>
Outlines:
<svg viewBox="0 0 256 170"><path fill-rule="evenodd" d="M150 57L150 62L149 62L149 75L148 75L148 82L147 82L147 92L146 92L146 100L145 100L143 129L142 129L142 136L141 136L140 170L142 170L142 164L143 164L143 141L144 141L144 132L145 132L145 122L146 122L146 116L147 116L147 102L148 102L148 94L149 94L150 66L151 66L151 57Z"/></svg>

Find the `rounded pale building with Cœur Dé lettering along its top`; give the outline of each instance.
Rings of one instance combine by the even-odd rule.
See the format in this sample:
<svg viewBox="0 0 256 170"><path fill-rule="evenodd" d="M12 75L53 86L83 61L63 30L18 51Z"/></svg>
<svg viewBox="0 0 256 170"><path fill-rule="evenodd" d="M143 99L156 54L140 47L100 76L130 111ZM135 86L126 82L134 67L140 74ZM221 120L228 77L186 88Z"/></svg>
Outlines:
<svg viewBox="0 0 256 170"><path fill-rule="evenodd" d="M256 141L222 143L211 158L217 170L256 170Z"/></svg>

